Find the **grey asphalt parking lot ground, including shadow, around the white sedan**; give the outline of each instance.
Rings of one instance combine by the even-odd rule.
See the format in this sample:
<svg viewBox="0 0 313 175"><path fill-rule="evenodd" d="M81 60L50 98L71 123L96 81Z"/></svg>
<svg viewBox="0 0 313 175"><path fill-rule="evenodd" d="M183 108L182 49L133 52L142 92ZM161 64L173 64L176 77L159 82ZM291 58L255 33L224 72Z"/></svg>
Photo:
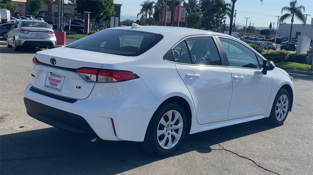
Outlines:
<svg viewBox="0 0 313 175"><path fill-rule="evenodd" d="M284 125L259 120L188 135L175 154L154 157L136 142L90 142L29 117L23 92L38 50L0 43L0 174L313 174L312 75L291 74L296 103Z"/></svg>

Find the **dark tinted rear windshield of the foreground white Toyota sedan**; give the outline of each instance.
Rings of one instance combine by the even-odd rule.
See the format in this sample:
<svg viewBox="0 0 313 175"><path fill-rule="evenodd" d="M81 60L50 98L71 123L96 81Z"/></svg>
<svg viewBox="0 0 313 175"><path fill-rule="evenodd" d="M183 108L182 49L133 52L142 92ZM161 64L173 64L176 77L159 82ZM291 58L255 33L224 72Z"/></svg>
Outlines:
<svg viewBox="0 0 313 175"><path fill-rule="evenodd" d="M65 47L107 54L138 56L162 40L163 35L119 29L105 29Z"/></svg>

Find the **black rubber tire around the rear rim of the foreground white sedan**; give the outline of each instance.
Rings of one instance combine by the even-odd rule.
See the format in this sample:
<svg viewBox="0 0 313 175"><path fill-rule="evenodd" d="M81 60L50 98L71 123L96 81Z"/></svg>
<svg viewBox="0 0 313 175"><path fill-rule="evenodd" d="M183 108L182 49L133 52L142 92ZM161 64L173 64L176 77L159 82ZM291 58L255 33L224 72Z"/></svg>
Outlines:
<svg viewBox="0 0 313 175"><path fill-rule="evenodd" d="M182 135L180 139L178 140L177 144L173 146L171 149L164 149L160 146L158 143L158 137L156 136L156 131L159 127L159 122L164 114L167 113L167 111L170 110L176 110L178 111L182 116L183 121L183 129L182 129ZM185 137L187 129L187 120L184 110L180 105L177 103L168 103L165 105L160 106L157 111L153 114L151 121L148 125L145 140L141 143L143 149L148 152L149 154L154 154L158 156L167 156L172 154L176 151L176 149L179 147L179 145L182 143L183 138Z"/></svg>

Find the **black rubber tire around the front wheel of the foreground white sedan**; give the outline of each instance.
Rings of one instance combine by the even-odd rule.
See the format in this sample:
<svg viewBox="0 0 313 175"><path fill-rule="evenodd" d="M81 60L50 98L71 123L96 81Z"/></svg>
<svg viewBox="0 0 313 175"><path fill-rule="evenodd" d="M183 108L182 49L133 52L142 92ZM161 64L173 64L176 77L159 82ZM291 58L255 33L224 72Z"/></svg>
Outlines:
<svg viewBox="0 0 313 175"><path fill-rule="evenodd" d="M281 95L285 94L288 98L288 109L287 109L287 112L286 112L286 116L285 118L282 120L282 121L278 121L277 118L276 118L276 114L275 114L275 111L276 111L276 104L279 100L279 97ZM284 121L286 120L287 116L288 116L288 113L289 113L289 110L290 110L290 106L291 106L291 100L290 100L290 95L289 95L289 92L286 90L286 89L281 89L276 97L275 97L275 100L273 102L273 105L272 105L272 110L271 110L271 113L269 115L269 118L268 118L268 122L270 125L274 125L274 126L280 126L280 125L283 125L284 124Z"/></svg>

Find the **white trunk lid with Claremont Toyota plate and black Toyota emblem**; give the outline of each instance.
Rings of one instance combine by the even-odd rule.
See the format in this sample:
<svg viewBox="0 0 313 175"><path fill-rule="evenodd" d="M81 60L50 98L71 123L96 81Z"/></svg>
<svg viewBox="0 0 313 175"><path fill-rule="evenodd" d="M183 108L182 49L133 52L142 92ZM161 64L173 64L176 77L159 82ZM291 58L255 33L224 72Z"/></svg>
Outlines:
<svg viewBox="0 0 313 175"><path fill-rule="evenodd" d="M32 72L32 85L40 90L74 99L87 98L95 82L85 81L78 68L100 69L104 63L123 56L60 47L39 51L38 63Z"/></svg>

